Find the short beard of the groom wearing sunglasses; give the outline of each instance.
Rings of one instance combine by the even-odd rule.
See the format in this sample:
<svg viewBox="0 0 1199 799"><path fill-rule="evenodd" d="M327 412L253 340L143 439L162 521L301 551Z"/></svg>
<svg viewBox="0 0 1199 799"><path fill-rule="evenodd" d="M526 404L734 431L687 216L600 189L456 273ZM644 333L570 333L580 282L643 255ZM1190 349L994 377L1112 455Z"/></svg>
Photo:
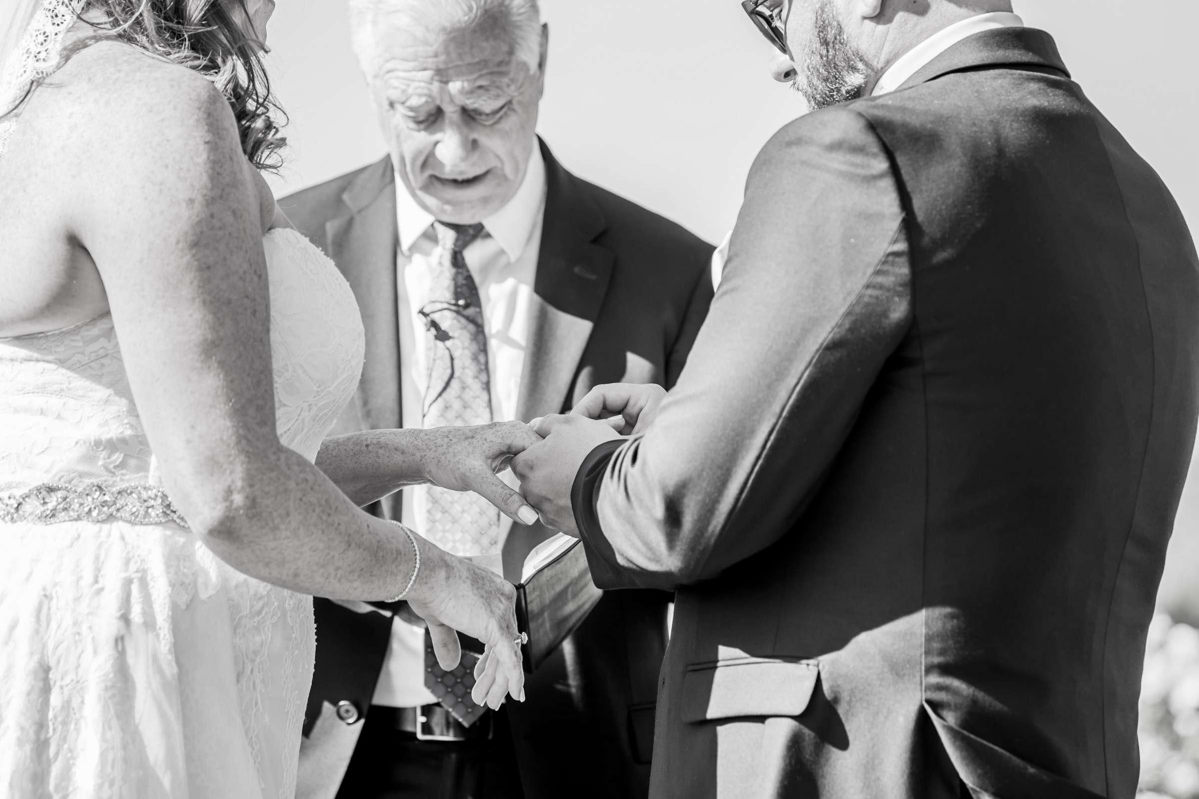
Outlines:
<svg viewBox="0 0 1199 799"><path fill-rule="evenodd" d="M861 97L875 68L850 46L830 0L817 5L812 34L814 46L805 54L791 87L803 95L812 110Z"/></svg>

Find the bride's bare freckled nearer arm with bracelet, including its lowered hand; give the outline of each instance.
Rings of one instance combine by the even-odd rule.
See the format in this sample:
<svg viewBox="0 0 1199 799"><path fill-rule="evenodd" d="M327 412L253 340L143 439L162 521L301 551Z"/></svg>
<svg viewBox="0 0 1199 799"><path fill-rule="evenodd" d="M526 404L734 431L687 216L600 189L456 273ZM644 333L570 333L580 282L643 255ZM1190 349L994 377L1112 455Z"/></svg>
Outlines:
<svg viewBox="0 0 1199 799"><path fill-rule="evenodd" d="M228 104L194 73L140 56L94 86L106 78L121 90L83 98L85 145L64 155L78 159L65 170L67 216L103 278L168 492L194 534L248 575L325 597L396 597L415 567L408 535L276 435L260 213ZM519 688L511 587L420 547L418 612L495 647L495 689Z"/></svg>

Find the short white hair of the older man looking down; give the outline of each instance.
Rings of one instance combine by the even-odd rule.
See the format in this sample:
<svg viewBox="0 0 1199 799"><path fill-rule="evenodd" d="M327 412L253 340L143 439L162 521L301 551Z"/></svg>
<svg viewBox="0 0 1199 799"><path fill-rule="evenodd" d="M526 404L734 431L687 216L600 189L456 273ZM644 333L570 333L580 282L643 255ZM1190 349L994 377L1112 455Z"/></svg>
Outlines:
<svg viewBox="0 0 1199 799"><path fill-rule="evenodd" d="M368 78L374 74L378 22L388 14L402 14L433 30L452 30L499 12L507 17L516 56L532 69L541 62L537 0L349 0L349 12L350 40Z"/></svg>

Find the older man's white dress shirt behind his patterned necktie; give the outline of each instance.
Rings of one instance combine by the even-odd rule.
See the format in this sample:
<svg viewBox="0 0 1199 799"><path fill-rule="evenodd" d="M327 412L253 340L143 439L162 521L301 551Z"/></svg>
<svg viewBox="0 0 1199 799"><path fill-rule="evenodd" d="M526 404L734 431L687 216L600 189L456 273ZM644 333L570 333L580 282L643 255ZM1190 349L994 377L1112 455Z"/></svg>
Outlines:
<svg viewBox="0 0 1199 799"><path fill-rule="evenodd" d="M405 428L420 428L428 363L427 333L418 311L429 301L433 270L439 265L438 237L433 217L416 204L398 176L396 207L399 223L396 285L399 295L400 416ZM520 188L507 205L482 220L484 235L463 252L483 302L494 422L517 418L544 211L546 162L534 144ZM512 479L511 473L507 477ZM404 489L403 523L416 533L424 532L421 509L426 497L424 486ZM501 515L500 525L502 541L512 520ZM410 708L434 702L436 698L424 688L424 628L397 618L391 625L391 647L373 703Z"/></svg>

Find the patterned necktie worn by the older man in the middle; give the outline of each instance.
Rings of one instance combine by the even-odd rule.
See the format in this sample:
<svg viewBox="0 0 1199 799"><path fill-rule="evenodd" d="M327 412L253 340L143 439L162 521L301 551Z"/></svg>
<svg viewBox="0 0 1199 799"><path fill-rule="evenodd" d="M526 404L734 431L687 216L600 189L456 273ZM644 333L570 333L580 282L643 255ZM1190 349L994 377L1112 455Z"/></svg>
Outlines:
<svg viewBox="0 0 1199 799"><path fill-rule="evenodd" d="M428 383L423 424L441 428L492 422L492 382L487 369L487 331L478 287L466 268L463 250L483 232L483 225L434 223L440 258L421 309L427 329ZM452 555L494 555L500 551L500 512L476 494L429 488L424 495L424 538ZM474 703L475 662L463 652L462 664L442 670L424 636L424 685L468 727L486 708Z"/></svg>

